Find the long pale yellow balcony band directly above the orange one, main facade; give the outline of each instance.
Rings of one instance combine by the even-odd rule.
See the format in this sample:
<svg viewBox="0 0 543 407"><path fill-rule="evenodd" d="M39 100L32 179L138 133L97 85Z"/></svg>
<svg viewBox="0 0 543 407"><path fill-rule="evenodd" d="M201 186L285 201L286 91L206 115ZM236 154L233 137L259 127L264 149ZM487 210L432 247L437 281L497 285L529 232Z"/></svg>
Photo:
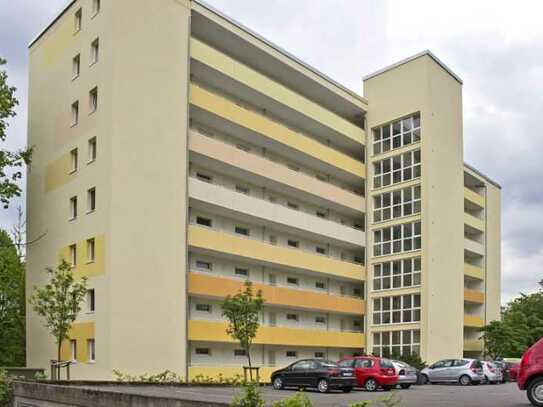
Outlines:
<svg viewBox="0 0 543 407"><path fill-rule="evenodd" d="M366 269L361 264L349 263L312 252L274 246L261 240L231 235L205 227L189 226L189 245L202 252L241 257L268 265L313 271L355 281L365 279Z"/></svg>

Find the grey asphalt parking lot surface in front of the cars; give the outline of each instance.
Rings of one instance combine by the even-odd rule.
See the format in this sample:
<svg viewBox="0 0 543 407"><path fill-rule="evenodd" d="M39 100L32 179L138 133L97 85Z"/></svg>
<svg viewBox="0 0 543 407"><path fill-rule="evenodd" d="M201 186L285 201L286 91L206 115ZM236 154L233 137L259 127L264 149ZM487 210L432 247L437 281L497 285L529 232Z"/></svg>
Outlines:
<svg viewBox="0 0 543 407"><path fill-rule="evenodd" d="M83 386L93 388L93 386ZM199 387L199 386L100 386L96 390L115 391L148 396L167 397L173 399L198 400L204 402L229 403L239 388L231 387ZM266 401L272 404L296 393L296 390L273 390L266 386L262 388ZM363 390L353 390L349 394L332 392L320 394L317 391L305 392L315 407L348 406L361 400L372 400L386 396L388 392L378 391L368 393ZM530 403L523 391L517 389L516 383L500 385L426 385L414 386L407 390L397 390L402 407L529 407Z"/></svg>

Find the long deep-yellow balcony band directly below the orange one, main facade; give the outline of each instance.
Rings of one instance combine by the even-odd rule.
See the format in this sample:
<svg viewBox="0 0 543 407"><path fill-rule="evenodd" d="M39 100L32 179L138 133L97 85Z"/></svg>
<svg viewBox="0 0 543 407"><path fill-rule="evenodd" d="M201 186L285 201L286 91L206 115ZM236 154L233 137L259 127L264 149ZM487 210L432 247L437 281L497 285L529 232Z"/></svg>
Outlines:
<svg viewBox="0 0 543 407"><path fill-rule="evenodd" d="M233 343L232 337L226 333L226 326L225 322L190 320L188 322L188 340ZM253 343L260 345L360 349L364 347L365 341L363 333L262 325L258 329Z"/></svg>

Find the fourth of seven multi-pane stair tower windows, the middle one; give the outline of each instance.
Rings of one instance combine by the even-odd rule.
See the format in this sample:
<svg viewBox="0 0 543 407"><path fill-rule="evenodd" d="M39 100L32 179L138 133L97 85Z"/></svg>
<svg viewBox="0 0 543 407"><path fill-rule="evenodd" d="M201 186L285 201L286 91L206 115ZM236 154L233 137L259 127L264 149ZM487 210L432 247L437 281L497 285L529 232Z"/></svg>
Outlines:
<svg viewBox="0 0 543 407"><path fill-rule="evenodd" d="M420 222L394 225L373 232L373 255L386 256L391 253L419 250L421 247Z"/></svg>

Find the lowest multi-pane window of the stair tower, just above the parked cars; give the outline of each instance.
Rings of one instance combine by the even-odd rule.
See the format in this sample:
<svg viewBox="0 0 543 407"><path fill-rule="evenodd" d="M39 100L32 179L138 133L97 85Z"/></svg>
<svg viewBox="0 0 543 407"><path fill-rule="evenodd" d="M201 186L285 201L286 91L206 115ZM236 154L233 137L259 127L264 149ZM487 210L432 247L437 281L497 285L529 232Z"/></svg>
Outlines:
<svg viewBox="0 0 543 407"><path fill-rule="evenodd" d="M373 334L375 356L409 355L420 353L420 331L418 329Z"/></svg>

